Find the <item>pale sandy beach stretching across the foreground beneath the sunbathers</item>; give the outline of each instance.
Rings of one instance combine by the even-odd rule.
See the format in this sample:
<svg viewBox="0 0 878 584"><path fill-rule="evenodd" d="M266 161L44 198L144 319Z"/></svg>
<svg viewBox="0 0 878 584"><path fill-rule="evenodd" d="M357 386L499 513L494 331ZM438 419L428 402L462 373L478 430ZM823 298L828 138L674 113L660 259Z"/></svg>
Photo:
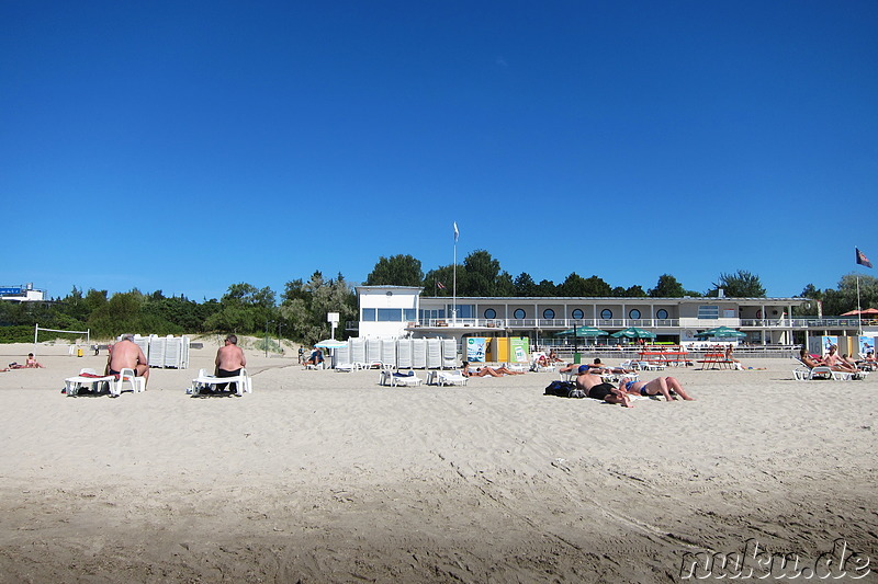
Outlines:
<svg viewBox="0 0 878 584"><path fill-rule="evenodd" d="M748 540L800 569L843 541L876 581L878 373L675 367L697 401L626 410L248 351L252 393L187 396L217 346L117 399L60 392L105 353L0 374L0 582L678 582Z"/></svg>

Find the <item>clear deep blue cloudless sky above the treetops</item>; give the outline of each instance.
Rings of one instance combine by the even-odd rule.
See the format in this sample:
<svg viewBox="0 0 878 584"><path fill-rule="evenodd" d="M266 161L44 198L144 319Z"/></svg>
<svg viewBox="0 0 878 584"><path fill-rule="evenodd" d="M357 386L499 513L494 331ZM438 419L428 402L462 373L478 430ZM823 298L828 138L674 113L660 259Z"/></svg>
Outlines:
<svg viewBox="0 0 878 584"><path fill-rule="evenodd" d="M0 285L875 262L874 1L0 2ZM865 271L874 275L871 271Z"/></svg>

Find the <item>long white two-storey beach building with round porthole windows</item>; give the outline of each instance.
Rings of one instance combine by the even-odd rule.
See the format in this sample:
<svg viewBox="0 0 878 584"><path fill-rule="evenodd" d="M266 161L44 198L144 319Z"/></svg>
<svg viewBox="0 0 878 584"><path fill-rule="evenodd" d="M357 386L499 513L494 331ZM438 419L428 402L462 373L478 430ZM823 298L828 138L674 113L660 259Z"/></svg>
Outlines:
<svg viewBox="0 0 878 584"><path fill-rule="evenodd" d="M415 286L358 286L360 320L347 323L360 337L528 337L531 346L570 343L558 333L594 327L615 333L635 327L656 335L655 342L710 342L699 333L717 327L746 336L723 343L789 346L823 335L854 336L857 318L790 318L807 298L451 298L420 296ZM876 335L878 331L868 332ZM578 343L586 340L579 339ZM611 336L588 343L618 343ZM623 343L626 341L622 341Z"/></svg>

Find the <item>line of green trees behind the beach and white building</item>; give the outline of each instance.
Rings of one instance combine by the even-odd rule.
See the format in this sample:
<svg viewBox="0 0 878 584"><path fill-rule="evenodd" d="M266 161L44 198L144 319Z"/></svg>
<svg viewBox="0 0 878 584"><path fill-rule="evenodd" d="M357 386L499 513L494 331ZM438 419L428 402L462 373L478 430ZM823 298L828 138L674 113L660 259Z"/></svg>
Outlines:
<svg viewBox="0 0 878 584"><path fill-rule="evenodd" d="M412 255L380 257L363 284L368 286L417 286L425 296L452 296L454 266L444 265L425 273L420 261ZM878 279L871 276L845 275L837 289L821 290L807 285L801 295L813 301L797 308L795 316L838 316L857 307L857 285L863 308L878 306ZM641 285L611 286L597 275L583 277L571 273L555 284L536 282L529 274L513 277L502 270L499 261L485 250L470 253L457 266L459 297L620 297L680 298L717 297L764 298L759 277L739 270L722 273L703 293L686 289L676 277L663 274L654 287ZM353 285L341 274L325 278L314 272L307 280L294 279L278 295L270 287L258 288L239 283L228 287L222 298L198 302L185 296L166 297L161 290L144 294L137 289L108 294L106 290L77 287L64 298L46 302L0 302L0 342L33 340L33 328L91 331L93 337L110 339L123 332L140 334L196 334L234 332L236 334L283 337L313 344L327 339L328 312L338 312L340 336L346 336L345 322L358 319ZM336 336L339 336L337 333Z"/></svg>

